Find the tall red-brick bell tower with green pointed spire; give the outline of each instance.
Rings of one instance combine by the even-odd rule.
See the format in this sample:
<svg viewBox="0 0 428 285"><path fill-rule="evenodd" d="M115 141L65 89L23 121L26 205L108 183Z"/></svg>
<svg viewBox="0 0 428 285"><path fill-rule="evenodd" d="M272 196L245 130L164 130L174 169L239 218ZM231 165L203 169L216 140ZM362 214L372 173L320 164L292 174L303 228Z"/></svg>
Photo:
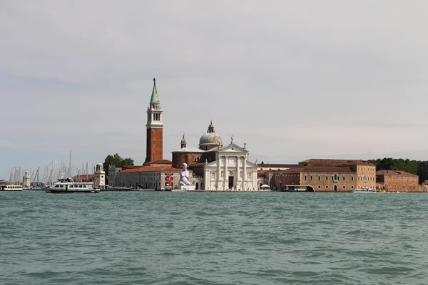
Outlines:
<svg viewBox="0 0 428 285"><path fill-rule="evenodd" d="M156 89L156 78L153 78L153 91L150 105L147 108L147 142L146 162L163 159L163 122L162 108Z"/></svg>

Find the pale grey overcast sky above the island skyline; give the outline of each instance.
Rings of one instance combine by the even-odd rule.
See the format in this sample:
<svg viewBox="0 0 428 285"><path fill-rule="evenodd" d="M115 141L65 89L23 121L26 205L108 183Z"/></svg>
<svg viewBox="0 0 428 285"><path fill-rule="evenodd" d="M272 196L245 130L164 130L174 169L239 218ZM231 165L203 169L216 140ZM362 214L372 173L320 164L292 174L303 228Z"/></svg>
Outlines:
<svg viewBox="0 0 428 285"><path fill-rule="evenodd" d="M428 160L427 1L0 1L0 179L163 157L210 120L250 160Z"/></svg>

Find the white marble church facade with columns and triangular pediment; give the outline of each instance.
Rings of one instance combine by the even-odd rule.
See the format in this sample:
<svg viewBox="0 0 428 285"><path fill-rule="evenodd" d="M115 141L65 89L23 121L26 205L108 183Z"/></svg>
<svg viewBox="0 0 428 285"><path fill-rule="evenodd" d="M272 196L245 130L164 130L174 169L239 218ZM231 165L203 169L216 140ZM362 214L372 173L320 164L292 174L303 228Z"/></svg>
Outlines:
<svg viewBox="0 0 428 285"><path fill-rule="evenodd" d="M248 150L231 143L215 152L217 160L204 167L205 190L258 190L257 165L248 161Z"/></svg>

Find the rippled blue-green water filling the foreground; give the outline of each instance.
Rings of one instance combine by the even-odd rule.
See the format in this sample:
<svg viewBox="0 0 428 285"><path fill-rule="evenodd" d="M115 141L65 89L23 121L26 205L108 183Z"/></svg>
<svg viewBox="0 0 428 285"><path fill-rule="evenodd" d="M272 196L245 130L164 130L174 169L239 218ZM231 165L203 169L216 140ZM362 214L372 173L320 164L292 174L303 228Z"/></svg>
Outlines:
<svg viewBox="0 0 428 285"><path fill-rule="evenodd" d="M0 192L0 284L428 284L428 195Z"/></svg>

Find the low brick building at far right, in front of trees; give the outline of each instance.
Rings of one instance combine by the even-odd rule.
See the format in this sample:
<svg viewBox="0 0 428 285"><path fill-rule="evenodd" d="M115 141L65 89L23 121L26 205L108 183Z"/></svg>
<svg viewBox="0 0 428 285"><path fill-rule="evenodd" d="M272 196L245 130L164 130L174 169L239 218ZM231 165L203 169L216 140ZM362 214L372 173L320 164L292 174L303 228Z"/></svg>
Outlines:
<svg viewBox="0 0 428 285"><path fill-rule="evenodd" d="M376 172L377 188L387 192L421 192L419 177L412 173L397 170Z"/></svg>

